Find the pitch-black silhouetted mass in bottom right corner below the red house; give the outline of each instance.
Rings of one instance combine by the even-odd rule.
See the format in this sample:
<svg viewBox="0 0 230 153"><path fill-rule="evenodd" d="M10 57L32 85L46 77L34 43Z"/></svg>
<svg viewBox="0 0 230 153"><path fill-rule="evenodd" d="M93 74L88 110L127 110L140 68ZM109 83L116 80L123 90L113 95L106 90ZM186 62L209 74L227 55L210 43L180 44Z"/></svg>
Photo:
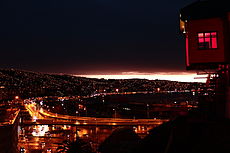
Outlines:
<svg viewBox="0 0 230 153"><path fill-rule="evenodd" d="M134 153L228 153L230 122L181 116L150 131Z"/></svg>

